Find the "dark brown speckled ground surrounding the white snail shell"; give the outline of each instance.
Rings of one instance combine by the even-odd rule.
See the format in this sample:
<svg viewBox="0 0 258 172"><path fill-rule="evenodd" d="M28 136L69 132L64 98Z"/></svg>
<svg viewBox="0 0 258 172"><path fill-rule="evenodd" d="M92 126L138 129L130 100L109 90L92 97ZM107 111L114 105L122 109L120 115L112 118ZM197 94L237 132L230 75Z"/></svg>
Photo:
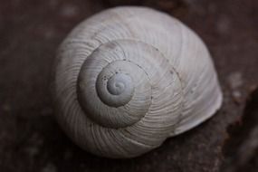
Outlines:
<svg viewBox="0 0 258 172"><path fill-rule="evenodd" d="M162 147L142 157L98 158L76 147L54 120L49 91L51 67L58 44L75 24L104 8L125 2L173 14L196 31L214 58L225 100L214 118L186 134L167 139ZM247 95L258 85L258 1L138 2L0 1L1 172L242 170L233 167L232 162L238 161L232 160L237 158L230 151L238 136L228 134L227 128L241 121L242 114L258 115L255 108L244 113ZM258 122L243 128L252 131L257 125ZM234 148L237 151L238 146ZM257 145L255 148L256 157L253 153L251 160L244 161L251 163L248 171L257 171Z"/></svg>

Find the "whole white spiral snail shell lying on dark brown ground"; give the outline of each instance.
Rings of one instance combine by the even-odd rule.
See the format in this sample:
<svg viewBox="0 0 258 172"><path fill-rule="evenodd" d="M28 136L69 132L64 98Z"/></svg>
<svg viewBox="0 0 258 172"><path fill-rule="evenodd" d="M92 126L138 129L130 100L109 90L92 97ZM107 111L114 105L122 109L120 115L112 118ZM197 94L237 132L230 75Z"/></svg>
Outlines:
<svg viewBox="0 0 258 172"><path fill-rule="evenodd" d="M57 119L81 148L137 157L210 118L222 103L205 44L145 7L117 7L79 24L55 66Z"/></svg>

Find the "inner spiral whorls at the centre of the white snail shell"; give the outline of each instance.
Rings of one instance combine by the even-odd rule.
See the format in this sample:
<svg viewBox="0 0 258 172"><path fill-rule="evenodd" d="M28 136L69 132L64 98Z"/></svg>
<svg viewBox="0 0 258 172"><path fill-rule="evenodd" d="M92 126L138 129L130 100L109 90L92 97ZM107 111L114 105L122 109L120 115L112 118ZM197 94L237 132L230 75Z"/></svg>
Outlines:
<svg viewBox="0 0 258 172"><path fill-rule="evenodd" d="M82 64L78 82L82 109L103 128L140 128L155 136L158 129L152 131L153 122L163 124L161 129L169 133L179 119L175 117L183 92L177 72L147 43L117 40L101 44Z"/></svg>

